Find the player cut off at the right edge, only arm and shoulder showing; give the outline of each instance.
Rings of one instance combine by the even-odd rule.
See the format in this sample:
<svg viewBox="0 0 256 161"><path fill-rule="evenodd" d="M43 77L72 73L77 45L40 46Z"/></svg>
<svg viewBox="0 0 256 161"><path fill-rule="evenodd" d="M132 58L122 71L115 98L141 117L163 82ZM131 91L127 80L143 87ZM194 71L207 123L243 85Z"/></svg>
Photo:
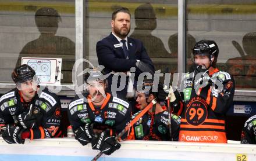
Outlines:
<svg viewBox="0 0 256 161"><path fill-rule="evenodd" d="M256 115L251 116L246 123L241 134L241 144L256 144Z"/></svg>

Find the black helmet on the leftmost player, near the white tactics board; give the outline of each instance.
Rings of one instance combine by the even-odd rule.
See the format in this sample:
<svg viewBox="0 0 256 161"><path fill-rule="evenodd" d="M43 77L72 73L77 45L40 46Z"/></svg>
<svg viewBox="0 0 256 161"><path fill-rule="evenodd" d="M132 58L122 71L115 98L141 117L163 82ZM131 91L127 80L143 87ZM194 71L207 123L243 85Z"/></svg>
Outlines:
<svg viewBox="0 0 256 161"><path fill-rule="evenodd" d="M26 82L34 78L35 71L27 64L20 65L16 67L12 72L12 80L15 83Z"/></svg>

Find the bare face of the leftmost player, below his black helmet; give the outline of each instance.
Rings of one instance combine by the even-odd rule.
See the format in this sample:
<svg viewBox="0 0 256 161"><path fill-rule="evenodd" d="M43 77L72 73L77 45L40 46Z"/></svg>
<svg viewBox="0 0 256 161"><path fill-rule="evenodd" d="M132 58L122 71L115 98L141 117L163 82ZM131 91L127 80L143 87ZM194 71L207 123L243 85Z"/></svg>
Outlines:
<svg viewBox="0 0 256 161"><path fill-rule="evenodd" d="M28 80L23 83L19 83L17 86L22 97L25 101L30 101L35 96L35 92L37 91L37 81L34 79Z"/></svg>

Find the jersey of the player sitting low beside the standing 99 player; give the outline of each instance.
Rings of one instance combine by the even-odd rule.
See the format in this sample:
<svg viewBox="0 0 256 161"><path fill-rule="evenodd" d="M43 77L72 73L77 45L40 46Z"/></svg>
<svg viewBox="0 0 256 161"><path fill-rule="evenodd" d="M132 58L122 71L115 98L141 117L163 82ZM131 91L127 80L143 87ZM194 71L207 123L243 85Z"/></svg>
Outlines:
<svg viewBox="0 0 256 161"><path fill-rule="evenodd" d="M135 118L139 113L140 111L134 114L131 119ZM152 119L152 116L154 116L154 119ZM154 123L151 123L152 120ZM180 117L173 114L171 116L171 138L169 133L169 114L166 110L155 115L147 112L137 120L132 128L129 136L130 140L178 141Z"/></svg>

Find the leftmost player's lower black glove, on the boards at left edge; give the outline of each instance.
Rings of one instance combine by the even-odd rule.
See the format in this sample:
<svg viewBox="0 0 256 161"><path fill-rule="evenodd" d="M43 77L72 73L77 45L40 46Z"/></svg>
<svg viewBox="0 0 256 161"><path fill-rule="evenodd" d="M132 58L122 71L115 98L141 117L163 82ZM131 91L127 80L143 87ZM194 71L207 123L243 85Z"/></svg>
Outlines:
<svg viewBox="0 0 256 161"><path fill-rule="evenodd" d="M2 133L3 140L8 144L24 144L25 140L22 139L24 129L22 127L8 124L4 128L5 131Z"/></svg>

